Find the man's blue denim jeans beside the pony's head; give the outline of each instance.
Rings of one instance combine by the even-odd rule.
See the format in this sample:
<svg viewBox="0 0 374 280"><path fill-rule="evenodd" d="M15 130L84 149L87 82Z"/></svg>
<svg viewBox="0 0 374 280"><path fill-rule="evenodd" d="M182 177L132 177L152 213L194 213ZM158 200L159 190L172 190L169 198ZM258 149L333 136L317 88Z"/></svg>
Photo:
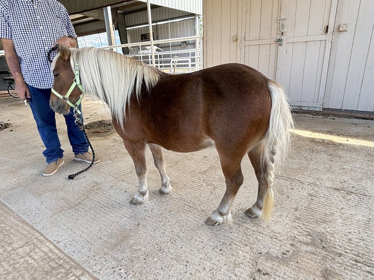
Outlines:
<svg viewBox="0 0 374 280"><path fill-rule="evenodd" d="M27 86L31 95L31 99L29 100L30 108L39 135L45 146L43 155L46 158L45 161L51 163L63 157L63 150L61 148L59 136L57 135L55 112L49 107L51 89L39 89L31 85ZM81 105L79 105L79 110L82 112ZM65 118L67 136L74 155L84 154L88 151L88 143L83 131L75 124L73 108L70 108L70 112L63 115L63 117Z"/></svg>

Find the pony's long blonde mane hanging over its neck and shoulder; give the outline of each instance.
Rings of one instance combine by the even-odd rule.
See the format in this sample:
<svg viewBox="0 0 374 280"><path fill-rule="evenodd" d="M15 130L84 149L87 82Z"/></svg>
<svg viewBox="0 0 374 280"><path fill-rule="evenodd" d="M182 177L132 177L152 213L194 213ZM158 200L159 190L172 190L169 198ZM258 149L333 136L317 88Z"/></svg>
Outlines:
<svg viewBox="0 0 374 280"><path fill-rule="evenodd" d="M71 48L72 69L76 60L84 92L105 102L117 120L125 120L132 94L139 100L143 81L149 91L162 73L119 53L94 47Z"/></svg>

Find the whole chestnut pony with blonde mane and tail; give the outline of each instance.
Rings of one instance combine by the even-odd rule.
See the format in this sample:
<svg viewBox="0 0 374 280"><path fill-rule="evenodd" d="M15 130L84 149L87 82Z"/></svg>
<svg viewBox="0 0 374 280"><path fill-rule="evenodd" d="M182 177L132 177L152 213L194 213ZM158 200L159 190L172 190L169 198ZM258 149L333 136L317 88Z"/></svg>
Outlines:
<svg viewBox="0 0 374 280"><path fill-rule="evenodd" d="M161 194L171 190L161 147L192 152L214 146L226 192L205 222L232 222L230 207L243 183L241 161L246 154L258 180L258 194L245 213L270 219L274 169L286 156L293 126L278 83L242 64L172 75L109 50L64 45L52 70L55 80L50 106L55 112L68 113L84 92L108 105L139 179L131 203L148 199L146 145L161 176Z"/></svg>

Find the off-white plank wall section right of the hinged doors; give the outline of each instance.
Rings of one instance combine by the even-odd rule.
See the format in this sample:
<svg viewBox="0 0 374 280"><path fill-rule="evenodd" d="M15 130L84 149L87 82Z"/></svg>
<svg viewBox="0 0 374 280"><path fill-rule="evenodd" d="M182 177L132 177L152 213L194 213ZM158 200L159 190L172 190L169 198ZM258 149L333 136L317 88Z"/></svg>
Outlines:
<svg viewBox="0 0 374 280"><path fill-rule="evenodd" d="M334 33L324 107L373 112L374 0L339 0Z"/></svg>

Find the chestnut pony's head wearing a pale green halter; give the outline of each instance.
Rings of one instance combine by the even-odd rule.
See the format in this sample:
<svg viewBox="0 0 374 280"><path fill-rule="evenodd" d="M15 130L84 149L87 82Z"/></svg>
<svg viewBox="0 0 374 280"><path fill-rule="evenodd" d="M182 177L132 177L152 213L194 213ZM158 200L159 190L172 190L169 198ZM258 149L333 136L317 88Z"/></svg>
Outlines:
<svg viewBox="0 0 374 280"><path fill-rule="evenodd" d="M62 44L51 66L54 81L49 106L59 114L67 114L70 107L78 110L78 105L82 100L83 88L80 84L79 65L76 62L72 69L70 57L70 48Z"/></svg>

